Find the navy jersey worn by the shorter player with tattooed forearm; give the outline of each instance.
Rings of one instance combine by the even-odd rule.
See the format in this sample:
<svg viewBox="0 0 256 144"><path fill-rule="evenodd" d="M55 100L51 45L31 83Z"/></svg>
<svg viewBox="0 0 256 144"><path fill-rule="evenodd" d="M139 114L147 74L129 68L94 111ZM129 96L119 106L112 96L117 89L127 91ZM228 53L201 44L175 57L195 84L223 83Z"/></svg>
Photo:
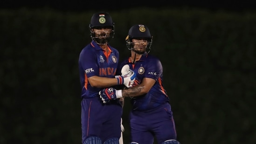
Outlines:
<svg viewBox="0 0 256 144"><path fill-rule="evenodd" d="M163 67L160 60L152 55L142 55L139 61L133 64L129 59L120 63L119 69L128 64L130 69L136 73L136 78L133 86L140 84L144 77L152 78L156 82L149 92L142 96L131 97L131 103L133 110L151 110L163 103L169 103L169 97L166 94L166 90L163 86ZM120 71L118 72L120 74Z"/></svg>

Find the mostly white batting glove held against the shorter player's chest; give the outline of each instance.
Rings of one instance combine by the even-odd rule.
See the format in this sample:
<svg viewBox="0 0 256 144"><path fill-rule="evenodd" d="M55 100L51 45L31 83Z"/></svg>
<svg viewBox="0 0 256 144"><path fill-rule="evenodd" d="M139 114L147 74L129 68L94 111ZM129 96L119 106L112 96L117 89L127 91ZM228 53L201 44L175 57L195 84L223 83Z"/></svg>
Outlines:
<svg viewBox="0 0 256 144"><path fill-rule="evenodd" d="M124 65L121 70L122 75L116 76L118 85L124 84L127 88L131 88L135 80L136 73L134 73L128 64Z"/></svg>

